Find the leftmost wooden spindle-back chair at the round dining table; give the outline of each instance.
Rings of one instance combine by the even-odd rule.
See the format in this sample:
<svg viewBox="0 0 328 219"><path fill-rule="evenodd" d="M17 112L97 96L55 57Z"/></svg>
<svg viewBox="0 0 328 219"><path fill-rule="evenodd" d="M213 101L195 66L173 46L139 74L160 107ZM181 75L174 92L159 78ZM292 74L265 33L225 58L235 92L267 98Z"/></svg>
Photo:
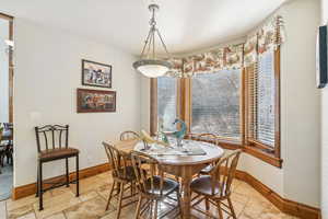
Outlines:
<svg viewBox="0 0 328 219"><path fill-rule="evenodd" d="M106 210L108 210L109 204L112 198L118 195L118 203L117 203L117 212L116 218L120 217L120 211L124 207L127 207L137 200L130 200L122 205L125 199L130 199L136 193L136 175L132 165L128 165L128 157L126 153L121 152L120 150L116 149L114 146L103 142L105 148L109 166L112 166L112 176L113 176L113 184L110 187ZM126 191L130 188L130 194L125 194ZM117 191L116 195L114 195L114 191Z"/></svg>

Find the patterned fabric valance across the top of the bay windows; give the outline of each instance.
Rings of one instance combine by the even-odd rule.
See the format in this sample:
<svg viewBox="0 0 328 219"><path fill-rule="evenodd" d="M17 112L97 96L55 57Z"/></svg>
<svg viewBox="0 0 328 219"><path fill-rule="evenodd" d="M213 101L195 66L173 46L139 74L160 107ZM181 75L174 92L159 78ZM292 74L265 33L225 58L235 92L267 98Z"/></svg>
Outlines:
<svg viewBox="0 0 328 219"><path fill-rule="evenodd" d="M239 69L257 61L258 54L276 49L284 42L283 20L271 18L255 34L249 35L244 44L230 45L207 53L183 58L172 58L168 76L191 77L195 73L209 73L223 69Z"/></svg>

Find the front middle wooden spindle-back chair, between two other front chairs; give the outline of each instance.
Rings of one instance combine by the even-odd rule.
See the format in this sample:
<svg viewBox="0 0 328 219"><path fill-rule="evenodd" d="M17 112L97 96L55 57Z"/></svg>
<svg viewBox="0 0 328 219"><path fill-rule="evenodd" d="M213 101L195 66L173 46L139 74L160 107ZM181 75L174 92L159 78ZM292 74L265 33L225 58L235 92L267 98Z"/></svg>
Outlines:
<svg viewBox="0 0 328 219"><path fill-rule="evenodd" d="M172 178L164 177L164 171L161 164L157 160L148 154L133 151L131 153L131 160L139 191L134 219L141 218L142 215L145 214L148 214L147 216L150 216L150 218L157 219L160 203L173 208L161 215L160 218L168 216L174 212L176 208L178 208L178 211L174 217L171 216L169 218L175 218L178 215L181 218L183 210L180 205L179 183ZM176 198L172 197L173 194L176 195ZM176 201L177 206L165 199Z"/></svg>

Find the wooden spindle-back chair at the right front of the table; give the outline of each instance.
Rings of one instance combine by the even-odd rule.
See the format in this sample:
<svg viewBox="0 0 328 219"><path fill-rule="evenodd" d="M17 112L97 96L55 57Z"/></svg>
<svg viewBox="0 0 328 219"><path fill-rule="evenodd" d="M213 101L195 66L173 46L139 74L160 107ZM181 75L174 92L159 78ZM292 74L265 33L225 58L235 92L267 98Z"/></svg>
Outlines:
<svg viewBox="0 0 328 219"><path fill-rule="evenodd" d="M191 204L194 209L214 218L209 212L209 204L212 204L218 208L220 219L223 219L223 211L232 216L233 219L237 218L231 200L231 185L235 177L241 153L242 150L235 150L221 159L210 175L201 175L191 182L190 189L197 194ZM206 201L206 211L196 207L203 200ZM223 203L224 200L227 200L227 204Z"/></svg>

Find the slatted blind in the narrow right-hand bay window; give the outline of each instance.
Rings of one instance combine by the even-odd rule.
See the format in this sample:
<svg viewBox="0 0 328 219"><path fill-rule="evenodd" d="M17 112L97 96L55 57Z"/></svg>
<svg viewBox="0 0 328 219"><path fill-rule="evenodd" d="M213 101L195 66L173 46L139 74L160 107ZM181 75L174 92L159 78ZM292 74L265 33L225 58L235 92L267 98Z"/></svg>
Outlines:
<svg viewBox="0 0 328 219"><path fill-rule="evenodd" d="M247 71L248 138L274 147L274 51L258 57Z"/></svg>

